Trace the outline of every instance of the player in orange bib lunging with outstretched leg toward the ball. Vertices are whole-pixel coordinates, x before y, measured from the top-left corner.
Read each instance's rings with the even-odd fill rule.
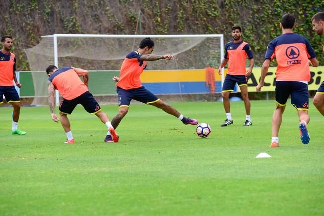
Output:
[[[111,121],[111,124],[116,129],[120,121],[128,112],[131,100],[137,100],[148,105],[162,109],[164,112],[179,118],[183,124],[197,125],[196,119],[184,117],[175,108],[160,100],[153,93],[148,91],[141,84],[140,75],[146,68],[146,61],[155,61],[159,59],[171,60],[173,56],[153,55],[154,42],[150,38],[145,38],[140,42],[137,51],[130,52],[124,59],[119,77],[113,77],[117,81],[118,105],[119,112]],[[108,139],[110,139],[108,137]]]

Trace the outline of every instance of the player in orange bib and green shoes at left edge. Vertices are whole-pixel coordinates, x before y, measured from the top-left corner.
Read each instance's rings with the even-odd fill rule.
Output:
[[[12,37],[1,38],[2,49],[0,51],[0,104],[3,103],[3,95],[7,103],[13,107],[11,134],[25,135],[26,132],[18,129],[20,116],[20,98],[13,81],[20,88],[21,84],[16,77],[16,57],[10,52],[12,48]]]

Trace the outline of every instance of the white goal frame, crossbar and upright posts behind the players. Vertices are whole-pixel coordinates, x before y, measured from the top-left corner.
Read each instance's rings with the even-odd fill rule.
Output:
[[[224,35],[223,34],[194,34],[194,35],[113,35],[113,34],[53,34],[53,35],[44,35],[41,36],[44,38],[53,38],[54,44],[54,65],[58,66],[58,47],[57,47],[57,39],[59,37],[88,37],[88,38],[188,38],[188,37],[219,37],[220,38],[220,63],[224,59]],[[224,68],[222,69],[222,87],[224,81]],[[56,90],[55,92],[55,100],[56,105],[59,105],[59,92]]]

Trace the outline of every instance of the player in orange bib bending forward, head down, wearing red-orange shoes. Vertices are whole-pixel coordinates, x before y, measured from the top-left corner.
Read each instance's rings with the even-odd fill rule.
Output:
[[[48,104],[50,107],[52,120],[54,122],[59,122],[54,112],[54,90],[57,89],[63,96],[59,110],[61,124],[67,136],[67,141],[65,143],[75,142],[67,115],[71,114],[78,104],[81,104],[87,112],[95,114],[107,126],[107,136],[112,137],[109,142],[118,142],[118,135],[115,129],[112,127],[107,114],[101,111],[98,102],[94,99],[93,95],[87,88],[89,81],[88,71],[74,67],[64,67],[58,69],[55,65],[50,65],[47,67],[46,73],[49,76],[47,82]],[[83,76],[84,82],[81,81],[79,78],[80,76]]]

